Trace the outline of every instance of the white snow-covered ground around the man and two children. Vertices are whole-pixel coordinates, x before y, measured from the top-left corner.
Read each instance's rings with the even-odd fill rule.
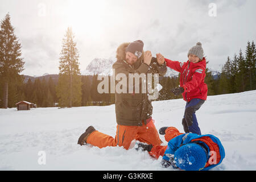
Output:
[[[153,107],[156,129],[175,126],[183,132],[185,101],[156,101]],[[256,90],[209,96],[197,119],[202,134],[216,135],[225,148],[225,159],[212,170],[256,170]],[[114,105],[0,109],[0,170],[172,170],[160,166],[162,157],[134,148],[78,145],[90,125],[114,137]],[[46,163],[39,164],[43,156]]]

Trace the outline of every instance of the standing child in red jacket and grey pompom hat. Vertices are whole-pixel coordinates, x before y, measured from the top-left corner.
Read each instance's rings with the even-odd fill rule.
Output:
[[[163,60],[164,57],[158,53],[156,58]],[[201,131],[196,119],[196,111],[207,100],[207,84],[204,82],[206,60],[202,44],[199,42],[188,51],[188,61],[181,63],[164,59],[167,67],[180,72],[180,86],[172,89],[177,96],[182,93],[183,99],[187,102],[182,125],[185,133],[196,133]]]

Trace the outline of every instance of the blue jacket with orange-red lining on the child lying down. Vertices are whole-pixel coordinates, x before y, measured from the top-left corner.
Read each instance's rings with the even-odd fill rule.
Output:
[[[178,135],[178,134],[177,134]],[[168,142],[166,151],[164,152],[163,159],[169,160],[167,155],[174,155],[175,151],[183,144],[188,143],[200,143],[208,150],[208,162],[205,167],[201,169],[202,171],[207,171],[210,168],[218,166],[222,160],[225,158],[225,150],[222,146],[220,140],[213,135],[197,135],[194,133],[179,134],[177,137],[171,139]]]

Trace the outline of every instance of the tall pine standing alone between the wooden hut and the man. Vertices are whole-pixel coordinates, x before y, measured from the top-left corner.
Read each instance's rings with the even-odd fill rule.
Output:
[[[69,27],[60,53],[59,81],[56,94],[61,107],[81,106],[81,76],[75,36]]]

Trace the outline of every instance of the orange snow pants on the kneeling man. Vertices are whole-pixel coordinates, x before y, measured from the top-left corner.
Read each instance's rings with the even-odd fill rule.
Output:
[[[151,119],[147,125],[142,126],[124,126],[117,125],[117,132],[115,138],[109,135],[93,131],[86,140],[86,143],[92,144],[99,148],[107,146],[123,146],[128,150],[132,140],[139,140],[147,144],[159,146],[162,141],[159,138],[158,131],[155,128],[154,122]]]

